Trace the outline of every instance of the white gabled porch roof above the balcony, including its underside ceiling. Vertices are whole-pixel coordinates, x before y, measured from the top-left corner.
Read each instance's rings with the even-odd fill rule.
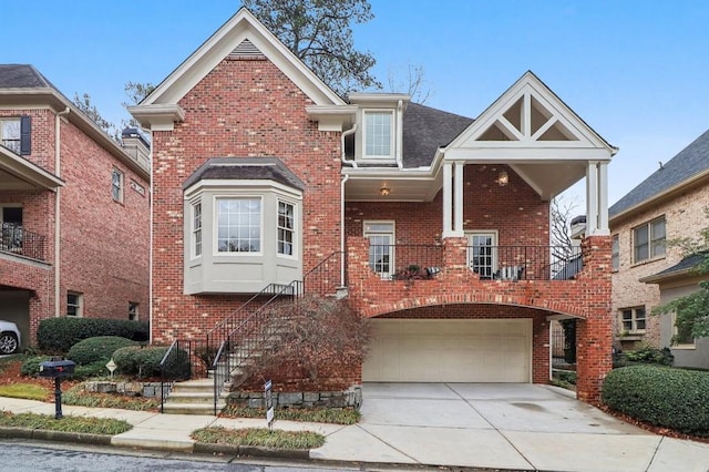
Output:
[[[510,165],[540,196],[553,198],[609,162],[612,146],[532,71],[441,148],[446,161]]]

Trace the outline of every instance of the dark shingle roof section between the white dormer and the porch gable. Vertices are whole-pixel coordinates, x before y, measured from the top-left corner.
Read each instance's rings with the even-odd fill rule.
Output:
[[[472,122],[470,117],[409,103],[403,113],[403,166],[431,165],[435,151],[458,137]]]

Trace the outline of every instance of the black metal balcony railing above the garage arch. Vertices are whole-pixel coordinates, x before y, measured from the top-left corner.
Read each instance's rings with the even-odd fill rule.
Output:
[[[441,245],[370,245],[369,266],[383,279],[432,279],[445,268],[443,250]],[[578,246],[467,246],[465,253],[481,280],[568,280],[583,267]]]

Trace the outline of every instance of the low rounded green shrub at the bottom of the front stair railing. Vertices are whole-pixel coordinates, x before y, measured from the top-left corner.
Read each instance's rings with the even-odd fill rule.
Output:
[[[113,361],[120,373],[138,378],[160,377],[162,373],[160,362],[167,349],[166,347],[136,346],[121,348],[113,352]],[[187,352],[184,350],[175,351],[171,359],[173,362],[169,362],[167,374],[175,379],[189,378],[191,366]]]

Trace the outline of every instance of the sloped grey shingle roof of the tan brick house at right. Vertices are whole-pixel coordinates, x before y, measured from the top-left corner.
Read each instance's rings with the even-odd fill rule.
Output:
[[[616,202],[608,208],[608,215],[610,218],[619,216],[707,174],[709,130]]]

